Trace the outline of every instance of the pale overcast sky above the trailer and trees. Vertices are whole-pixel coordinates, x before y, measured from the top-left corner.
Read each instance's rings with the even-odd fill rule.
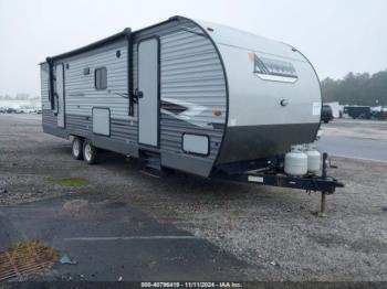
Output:
[[[0,95],[40,95],[38,64],[171,15],[286,42],[321,79],[387,68],[386,0],[0,0]]]

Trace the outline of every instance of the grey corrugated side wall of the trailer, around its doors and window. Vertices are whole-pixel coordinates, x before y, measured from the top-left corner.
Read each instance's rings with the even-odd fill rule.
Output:
[[[43,130],[59,137],[82,136],[96,147],[138,157],[138,111],[129,116],[127,79],[137,88],[137,44],[148,38],[160,43],[160,118],[158,148],[161,164],[208,176],[218,156],[227,115],[227,89],[223,67],[212,42],[188,20],[171,20],[133,33],[133,69],[127,73],[127,42],[55,60],[64,64],[65,128],[56,124],[50,107],[48,64],[41,65]],[[117,52],[119,51],[119,57]],[[54,64],[54,65],[55,65]],[[107,87],[95,88],[95,69],[106,67]],[[93,108],[109,110],[109,136],[93,133]],[[215,114],[216,111],[216,114]],[[184,136],[205,136],[208,153],[184,150]],[[194,139],[186,138],[186,139]],[[192,146],[188,146],[191,148]]]

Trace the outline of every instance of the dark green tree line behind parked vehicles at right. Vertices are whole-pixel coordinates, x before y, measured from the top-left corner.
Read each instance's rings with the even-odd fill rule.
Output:
[[[369,73],[348,73],[343,79],[330,77],[321,82],[323,100],[341,105],[387,106],[387,69]]]

